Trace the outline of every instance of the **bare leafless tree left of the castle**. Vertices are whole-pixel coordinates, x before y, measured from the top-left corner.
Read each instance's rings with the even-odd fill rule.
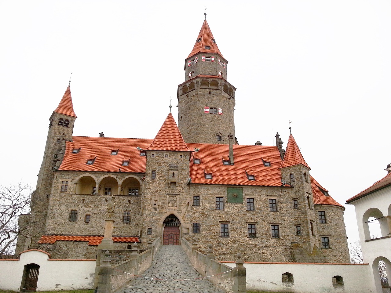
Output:
[[[13,254],[16,238],[27,227],[19,227],[18,217],[30,211],[30,188],[19,183],[16,186],[0,186],[0,258]]]

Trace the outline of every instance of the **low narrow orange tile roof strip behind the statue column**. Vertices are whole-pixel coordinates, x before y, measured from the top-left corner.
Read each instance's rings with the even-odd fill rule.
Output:
[[[54,244],[56,241],[88,241],[88,245],[97,246],[102,242],[100,235],[42,235],[39,244]],[[113,236],[114,242],[140,242],[139,236]]]

